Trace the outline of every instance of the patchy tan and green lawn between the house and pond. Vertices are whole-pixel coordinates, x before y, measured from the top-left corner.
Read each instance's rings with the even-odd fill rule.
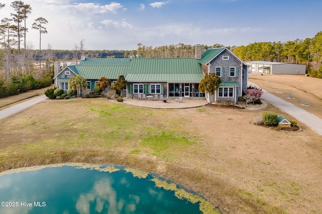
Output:
[[[263,111],[281,114],[270,104],[152,110],[103,98],[45,100],[1,120],[0,171],[113,163],[161,174],[224,213],[321,213],[321,136],[301,123],[295,133],[253,125]]]

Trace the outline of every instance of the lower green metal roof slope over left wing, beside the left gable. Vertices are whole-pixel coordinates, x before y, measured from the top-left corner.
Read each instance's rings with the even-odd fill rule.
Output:
[[[99,79],[105,76],[108,79],[117,79],[120,75],[126,76],[130,65],[75,65],[79,75],[86,79]]]

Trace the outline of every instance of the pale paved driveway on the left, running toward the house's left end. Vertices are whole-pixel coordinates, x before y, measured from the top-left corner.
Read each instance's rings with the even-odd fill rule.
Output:
[[[26,101],[23,101],[23,102],[19,102],[17,104],[13,104],[12,106],[4,109],[4,110],[1,110],[0,111],[0,120],[3,119],[3,118],[6,118],[12,114],[15,114],[17,112],[20,112],[28,107],[30,107],[31,105],[34,105],[38,102],[41,102],[43,100],[47,99],[47,96],[46,95],[41,95],[41,96],[37,96],[35,98],[32,98],[32,99],[28,99]]]

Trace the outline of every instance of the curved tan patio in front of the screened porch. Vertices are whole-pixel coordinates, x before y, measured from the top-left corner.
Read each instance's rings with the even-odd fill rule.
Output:
[[[151,109],[188,109],[197,108],[209,103],[204,97],[183,97],[182,102],[176,102],[176,98],[168,98],[167,102],[164,102],[163,100],[154,100],[153,98],[151,100],[125,98],[123,99],[123,102],[130,105]]]

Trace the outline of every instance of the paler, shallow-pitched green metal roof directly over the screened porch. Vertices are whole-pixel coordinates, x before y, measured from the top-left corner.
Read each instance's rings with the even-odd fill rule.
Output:
[[[129,82],[200,82],[202,73],[130,73],[125,79]]]

